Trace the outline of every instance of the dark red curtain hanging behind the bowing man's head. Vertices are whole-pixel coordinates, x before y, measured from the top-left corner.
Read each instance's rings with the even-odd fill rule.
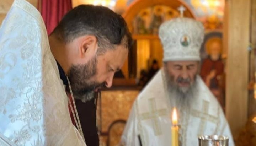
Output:
[[[48,35],[70,9],[71,0],[38,0],[38,10],[43,17]]]

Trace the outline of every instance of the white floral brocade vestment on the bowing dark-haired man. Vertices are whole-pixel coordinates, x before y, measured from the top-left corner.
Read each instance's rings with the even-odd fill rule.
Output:
[[[38,10],[15,0],[0,27],[0,146],[86,146]]]

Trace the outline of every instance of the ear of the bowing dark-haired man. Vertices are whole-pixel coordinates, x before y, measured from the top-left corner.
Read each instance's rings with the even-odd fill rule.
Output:
[[[79,57],[84,58],[86,56],[95,55],[97,48],[97,38],[93,35],[86,35],[81,39]]]

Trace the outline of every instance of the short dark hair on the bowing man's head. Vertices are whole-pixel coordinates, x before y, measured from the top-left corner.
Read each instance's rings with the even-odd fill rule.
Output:
[[[123,44],[127,48],[132,45],[132,37],[124,18],[103,6],[75,7],[66,13],[52,34],[56,34],[65,43],[83,35],[94,35],[101,53],[106,52],[106,48],[113,49],[113,45]]]

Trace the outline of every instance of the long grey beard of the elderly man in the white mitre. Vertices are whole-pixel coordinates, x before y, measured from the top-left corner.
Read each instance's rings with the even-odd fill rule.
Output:
[[[188,88],[179,87],[174,76],[165,72],[167,93],[172,107],[177,109],[189,109],[191,104],[196,100],[195,93],[197,90],[196,76],[194,82]]]

